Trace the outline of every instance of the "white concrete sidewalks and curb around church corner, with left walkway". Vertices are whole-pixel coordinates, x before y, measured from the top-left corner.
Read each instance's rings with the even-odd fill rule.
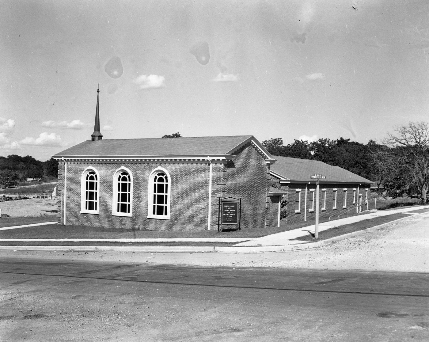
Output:
[[[366,214],[349,216],[332,220],[329,222],[323,222],[319,224],[319,232],[328,230],[330,228],[339,227],[346,224],[351,224],[379,216],[393,215],[396,213],[405,213],[409,215],[416,215],[412,213],[418,209],[427,209],[428,206],[419,206],[418,208],[402,208],[388,211],[369,211]],[[56,223],[56,222],[54,222]],[[47,222],[43,224],[52,224]],[[43,224],[29,224],[26,226],[15,226],[15,227],[4,227],[2,229],[16,229],[21,227],[31,227]],[[378,226],[377,226],[378,227]],[[353,235],[364,233],[365,231],[376,229],[376,227],[368,228],[366,230],[360,230],[353,233],[348,233],[335,238],[327,239],[324,241],[310,242],[296,240],[301,236],[307,236],[309,232],[314,233],[315,225],[309,225],[307,227],[297,228],[294,230],[288,230],[286,232],[276,233],[272,235],[262,236],[259,238],[173,238],[173,239],[0,239],[0,249],[13,249],[13,250],[75,250],[75,251],[158,251],[158,252],[244,252],[244,253],[255,253],[255,252],[270,252],[270,251],[287,251],[293,249],[305,249],[320,246],[328,242],[341,240]],[[233,246],[228,247],[214,247],[214,246],[1,246],[1,242],[227,242],[234,243],[238,242]],[[71,248],[72,247],[72,248]]]

